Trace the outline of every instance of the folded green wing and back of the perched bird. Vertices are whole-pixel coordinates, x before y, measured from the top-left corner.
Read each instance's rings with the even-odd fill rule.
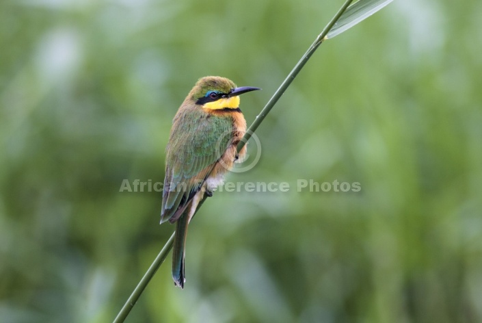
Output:
[[[200,190],[231,140],[229,116],[212,116],[197,107],[178,112],[165,157],[161,223],[177,220],[176,211]]]

